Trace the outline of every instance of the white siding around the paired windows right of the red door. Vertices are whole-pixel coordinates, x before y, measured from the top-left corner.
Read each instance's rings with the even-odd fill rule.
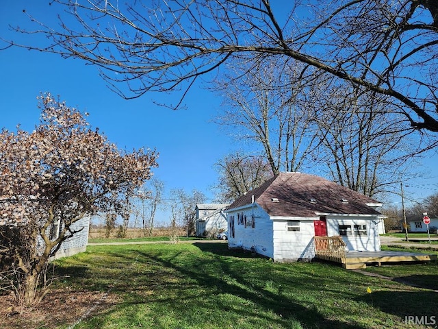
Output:
[[[348,251],[359,252],[369,251],[376,252],[381,250],[381,241],[378,236],[378,222],[376,217],[327,217],[327,235],[340,235],[339,225],[354,227],[355,225],[366,226],[367,235],[361,236],[342,236],[342,240],[347,245]]]

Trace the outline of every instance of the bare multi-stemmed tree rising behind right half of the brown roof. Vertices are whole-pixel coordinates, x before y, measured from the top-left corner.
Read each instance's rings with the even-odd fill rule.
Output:
[[[391,104],[346,83],[326,86],[318,99],[318,156],[333,180],[370,197],[400,182],[410,144],[400,118],[383,109]]]

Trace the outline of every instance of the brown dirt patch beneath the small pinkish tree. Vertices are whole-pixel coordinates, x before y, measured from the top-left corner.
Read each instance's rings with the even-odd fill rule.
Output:
[[[12,295],[0,295],[0,328],[57,328],[75,324],[116,304],[117,297],[96,291],[53,290],[38,306],[16,307]]]

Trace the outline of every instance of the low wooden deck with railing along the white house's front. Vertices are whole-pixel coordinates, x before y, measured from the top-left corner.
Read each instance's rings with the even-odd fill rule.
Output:
[[[315,236],[316,258],[340,263],[344,269],[365,269],[367,264],[381,266],[383,263],[428,262],[437,260],[437,255],[415,252],[346,252],[339,236]]]

